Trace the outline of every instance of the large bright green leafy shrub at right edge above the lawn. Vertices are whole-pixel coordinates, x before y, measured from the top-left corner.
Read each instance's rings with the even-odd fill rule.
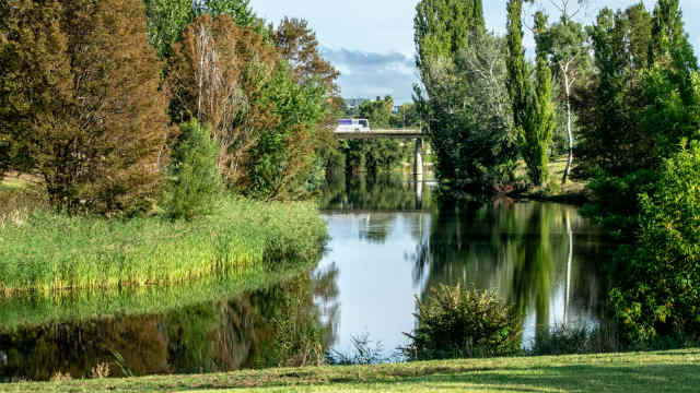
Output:
[[[667,159],[640,196],[640,234],[611,290],[631,342],[700,336],[700,144]]]

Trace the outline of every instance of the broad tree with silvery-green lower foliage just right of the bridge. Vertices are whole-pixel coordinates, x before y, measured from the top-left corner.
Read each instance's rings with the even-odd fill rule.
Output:
[[[443,186],[483,191],[512,182],[517,135],[505,85],[505,43],[485,29],[481,1],[421,1],[416,100]]]

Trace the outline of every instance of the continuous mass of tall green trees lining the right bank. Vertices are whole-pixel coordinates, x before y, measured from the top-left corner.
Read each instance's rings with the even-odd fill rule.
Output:
[[[517,191],[508,184],[522,158],[532,183],[551,190],[549,160],[568,153],[563,182],[570,171],[590,181],[585,212],[621,246],[602,267],[628,344],[697,337],[700,302],[688,288],[700,281],[687,261],[698,239],[669,224],[674,242],[660,224],[692,227],[684,212],[698,206],[697,175],[677,174],[685,186],[668,191],[668,166],[691,160],[680,146],[700,140],[700,73],[679,1],[657,0],[653,13],[642,2],[604,8],[584,27],[585,0],[552,0],[560,15],[535,13],[529,60],[523,14],[534,3],[508,1],[501,38],[486,33],[479,1],[419,2],[416,103],[436,175],[444,189]],[[660,201],[672,194],[676,205]]]

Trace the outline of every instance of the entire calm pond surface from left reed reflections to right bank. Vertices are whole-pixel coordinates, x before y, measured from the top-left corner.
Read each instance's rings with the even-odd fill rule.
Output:
[[[576,207],[495,200],[441,204],[430,183],[341,179],[323,217],[331,240],[311,271],[240,294],[187,287],[0,300],[0,381],[228,371],[350,354],[352,337],[406,344],[415,299],[439,284],[495,290],[537,326],[598,323],[606,253]]]

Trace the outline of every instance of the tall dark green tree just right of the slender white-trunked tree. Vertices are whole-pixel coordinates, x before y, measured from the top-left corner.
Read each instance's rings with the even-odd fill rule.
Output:
[[[588,33],[597,73],[572,97],[580,126],[576,171],[617,176],[649,166],[653,141],[634,116],[644,105],[640,71],[649,67],[651,15],[643,4],[625,12],[603,9]]]

